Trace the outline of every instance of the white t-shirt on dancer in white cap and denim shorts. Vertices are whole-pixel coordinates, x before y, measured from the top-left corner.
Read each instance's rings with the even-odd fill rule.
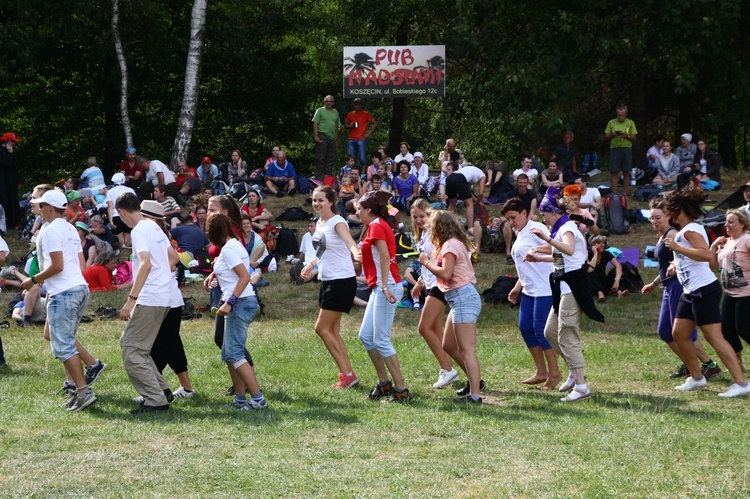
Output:
[[[64,218],[56,218],[44,229],[41,239],[44,248],[43,268],[52,265],[51,253],[59,251],[63,257],[62,272],[45,281],[47,293],[53,296],[76,286],[86,286],[86,279],[81,273],[81,262],[78,259],[78,254],[83,253],[83,248],[81,248],[81,239],[75,227]]]

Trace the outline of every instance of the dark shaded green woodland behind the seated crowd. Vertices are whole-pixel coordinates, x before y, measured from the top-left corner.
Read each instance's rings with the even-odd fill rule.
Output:
[[[124,156],[120,70],[107,2],[0,3],[0,131],[14,131],[26,184]],[[168,161],[182,102],[191,3],[121,0],[129,109],[139,153]],[[209,0],[188,163],[239,148],[262,166],[273,145],[312,171],[310,119],[341,99],[344,46],[446,46],[447,97],[368,100],[369,141],[425,153],[446,137],[475,164],[544,160],[572,129],[579,151],[605,154],[606,122],[626,104],[645,153],[656,133],[692,132],[744,167],[750,121],[750,2],[496,0]],[[342,135],[342,139],[344,136]],[[344,140],[339,155],[343,162]],[[395,154],[395,150],[393,151]],[[27,186],[25,186],[27,187]]]

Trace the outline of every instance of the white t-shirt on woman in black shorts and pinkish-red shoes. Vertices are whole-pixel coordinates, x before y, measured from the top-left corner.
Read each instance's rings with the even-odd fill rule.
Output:
[[[325,222],[321,218],[315,226],[312,242],[315,248],[315,256],[318,258],[318,278],[321,281],[347,279],[355,276],[349,248],[346,247],[346,243],[336,232],[338,224],[345,224],[346,230],[349,230],[346,220],[339,215],[334,215]]]

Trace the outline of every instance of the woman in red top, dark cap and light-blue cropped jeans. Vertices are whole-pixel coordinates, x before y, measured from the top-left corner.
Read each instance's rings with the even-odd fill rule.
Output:
[[[359,217],[366,226],[360,248],[362,267],[367,285],[372,288],[359,339],[378,373],[378,385],[370,393],[370,399],[388,396],[389,402],[408,402],[409,389],[404,386],[398,356],[391,343],[393,318],[404,288],[396,265],[396,239],[388,223],[389,199],[387,192],[368,192],[358,205]],[[393,385],[386,366],[393,377]]]

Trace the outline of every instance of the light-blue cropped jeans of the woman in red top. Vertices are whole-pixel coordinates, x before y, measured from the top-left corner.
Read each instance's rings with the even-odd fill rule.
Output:
[[[377,349],[384,359],[396,355],[396,349],[391,343],[391,327],[396,316],[396,307],[404,293],[404,286],[399,282],[389,285],[388,289],[396,297],[395,303],[386,299],[380,287],[373,288],[365,308],[365,316],[362,318],[362,326],[359,328],[359,339],[365,350],[369,352]]]

